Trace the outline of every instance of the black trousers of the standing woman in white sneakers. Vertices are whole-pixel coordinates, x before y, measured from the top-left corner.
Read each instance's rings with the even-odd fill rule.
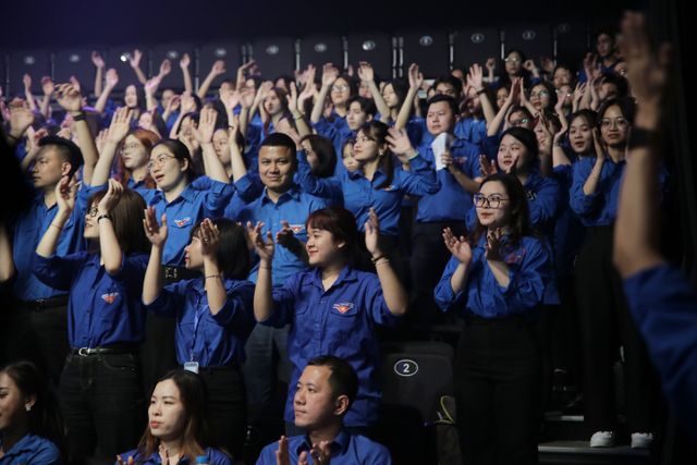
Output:
[[[614,430],[613,365],[624,347],[624,392],[631,432],[651,431],[655,377],[612,265],[610,227],[589,228],[576,266],[588,432]]]

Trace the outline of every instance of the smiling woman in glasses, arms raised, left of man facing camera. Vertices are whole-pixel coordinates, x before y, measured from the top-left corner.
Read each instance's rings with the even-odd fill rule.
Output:
[[[140,189],[157,218],[164,217],[169,240],[162,250],[162,278],[166,283],[195,278],[184,264],[184,247],[191,231],[204,218],[223,215],[234,187],[228,172],[216,155],[212,136],[217,112],[204,109],[198,127],[192,129],[203,151],[207,176],[196,176],[188,148],[180,140],[162,139],[155,144],[146,168],[155,181],[155,189]],[[100,157],[93,184],[106,182],[110,157]],[[195,184],[194,184],[195,181]],[[150,392],[155,382],[169,369],[179,366],[174,345],[174,322],[171,318],[148,315],[143,344],[144,392]]]

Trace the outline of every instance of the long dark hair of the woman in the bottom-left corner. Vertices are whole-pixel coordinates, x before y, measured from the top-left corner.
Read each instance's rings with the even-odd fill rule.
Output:
[[[32,409],[26,413],[29,432],[52,441],[64,455],[65,429],[63,428],[63,419],[56,395],[48,388],[44,375],[33,363],[26,360],[7,365],[0,372],[8,375],[23,395],[36,397]]]

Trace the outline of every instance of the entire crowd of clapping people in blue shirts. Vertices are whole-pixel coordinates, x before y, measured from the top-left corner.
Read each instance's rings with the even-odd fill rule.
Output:
[[[0,224],[0,464],[388,464],[380,344],[456,320],[467,464],[537,463],[554,380],[614,445],[620,358],[633,448],[659,379],[694,427],[694,291],[656,231],[670,53],[622,32],[435,79],[218,61],[194,89],[184,56],[160,91],[172,63],[137,50],[123,99],[98,53],[94,95],[25,76],[0,99],[33,187]]]

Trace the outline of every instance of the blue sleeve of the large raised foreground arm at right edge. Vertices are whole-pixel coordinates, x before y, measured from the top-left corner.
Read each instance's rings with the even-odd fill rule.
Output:
[[[669,264],[629,276],[624,292],[671,411],[697,438],[697,292]]]

